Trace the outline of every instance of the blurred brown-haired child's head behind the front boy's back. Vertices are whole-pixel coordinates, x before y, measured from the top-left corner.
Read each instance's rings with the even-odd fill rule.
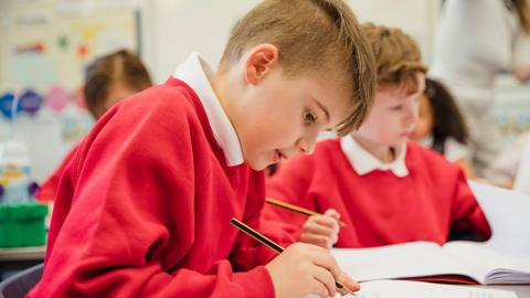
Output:
[[[97,120],[117,102],[152,85],[140,58],[120,50],[96,58],[86,67],[85,103]]]

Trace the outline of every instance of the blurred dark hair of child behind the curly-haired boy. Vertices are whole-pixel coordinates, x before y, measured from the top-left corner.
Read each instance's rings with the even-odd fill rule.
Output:
[[[439,82],[425,79],[425,96],[427,97],[434,115],[433,149],[444,153],[445,140],[453,137],[462,143],[467,142],[468,130],[458,106]]]

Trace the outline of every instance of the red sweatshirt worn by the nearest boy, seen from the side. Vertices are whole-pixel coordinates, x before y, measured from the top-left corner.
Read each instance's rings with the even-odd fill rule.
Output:
[[[225,164],[184,83],[113,107],[66,166],[43,277],[28,297],[274,297],[259,265],[276,253],[230,220],[293,238],[258,226],[263,174]]]

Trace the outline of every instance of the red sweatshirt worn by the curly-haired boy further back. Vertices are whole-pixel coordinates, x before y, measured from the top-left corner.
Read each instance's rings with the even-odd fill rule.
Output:
[[[407,143],[409,175],[374,170],[359,175],[339,139],[319,142],[314,156],[283,164],[267,184],[267,196],[325,212],[336,209],[348,224],[337,247],[372,247],[411,241],[447,242],[449,230],[475,230],[489,237],[489,225],[463,172],[434,151]],[[266,206],[264,216],[289,222],[298,237],[307,216]]]

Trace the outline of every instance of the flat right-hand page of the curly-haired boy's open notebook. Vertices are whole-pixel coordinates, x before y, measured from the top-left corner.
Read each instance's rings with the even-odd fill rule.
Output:
[[[455,241],[445,244],[444,251],[469,269],[473,277],[483,284],[487,284],[485,283],[486,276],[495,269],[502,268],[530,274],[530,257],[500,253],[491,247],[490,243]]]

